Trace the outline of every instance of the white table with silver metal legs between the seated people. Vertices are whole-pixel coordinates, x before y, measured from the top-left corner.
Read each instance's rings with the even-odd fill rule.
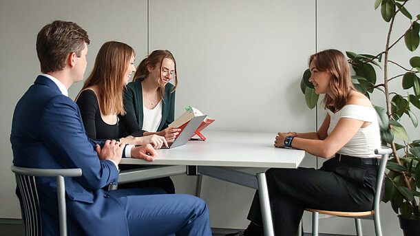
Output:
[[[277,133],[204,131],[205,141],[189,141],[174,149],[159,149],[154,162],[123,158],[120,164],[149,165],[121,171],[118,183],[169,175],[209,175],[258,189],[265,235],[274,235],[265,173],[251,175],[229,167],[297,168],[305,152],[273,146]]]

